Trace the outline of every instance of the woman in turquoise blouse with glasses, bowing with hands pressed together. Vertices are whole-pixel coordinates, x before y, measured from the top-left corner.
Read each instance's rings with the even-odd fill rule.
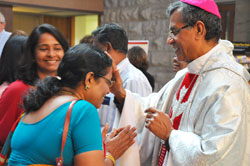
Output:
[[[25,115],[13,134],[8,164],[56,165],[67,109],[72,101],[78,100],[71,113],[63,165],[114,166],[110,158],[104,160],[97,112],[112,86],[111,65],[111,58],[91,45],[70,48],[57,76],[46,77],[24,97]],[[127,137],[130,146],[136,136],[134,131],[135,128],[126,128],[116,134]]]

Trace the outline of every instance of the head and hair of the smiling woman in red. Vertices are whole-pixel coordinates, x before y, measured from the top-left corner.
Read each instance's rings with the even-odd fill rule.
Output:
[[[50,24],[37,26],[30,34],[22,56],[18,79],[29,85],[47,75],[56,75],[57,67],[68,50],[63,35]]]

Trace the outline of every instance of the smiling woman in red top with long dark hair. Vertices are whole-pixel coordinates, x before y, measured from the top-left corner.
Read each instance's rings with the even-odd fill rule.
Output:
[[[18,117],[23,113],[21,97],[35,83],[56,71],[68,43],[56,27],[41,24],[28,37],[17,70],[17,80],[5,89],[0,99],[0,149]]]

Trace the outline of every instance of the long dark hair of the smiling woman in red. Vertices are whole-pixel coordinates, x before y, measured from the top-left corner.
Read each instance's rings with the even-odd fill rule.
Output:
[[[49,33],[56,38],[61,44],[64,52],[69,48],[67,41],[60,33],[60,31],[50,24],[38,25],[28,37],[27,44],[24,49],[24,55],[21,57],[20,65],[17,73],[17,79],[22,80],[24,83],[34,85],[39,80],[37,72],[37,64],[35,61],[36,53],[35,48],[39,42],[42,34]]]

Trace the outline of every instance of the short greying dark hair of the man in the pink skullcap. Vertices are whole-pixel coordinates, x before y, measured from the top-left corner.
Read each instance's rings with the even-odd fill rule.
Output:
[[[202,21],[207,31],[205,39],[208,41],[216,38],[218,42],[222,33],[221,19],[218,16],[181,1],[170,4],[167,9],[167,14],[171,16],[178,8],[182,11],[183,23],[194,26],[197,21]]]

